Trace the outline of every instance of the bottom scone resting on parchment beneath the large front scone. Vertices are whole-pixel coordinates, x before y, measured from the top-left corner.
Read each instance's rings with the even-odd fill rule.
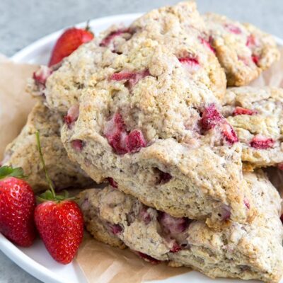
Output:
[[[279,282],[283,273],[281,199],[262,171],[246,173],[245,179],[258,214],[250,224],[232,221],[219,231],[209,229],[204,221],[187,219],[185,224],[185,219],[145,207],[111,186],[81,192],[80,204],[86,228],[95,238],[112,246],[125,244],[146,260],[170,261],[172,266],[192,267],[213,278]],[[109,239],[111,234],[116,242]]]

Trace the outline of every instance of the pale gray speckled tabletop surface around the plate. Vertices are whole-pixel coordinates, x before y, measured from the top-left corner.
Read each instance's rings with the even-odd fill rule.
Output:
[[[171,0],[0,0],[0,52],[7,56],[65,26],[86,19],[149,11]],[[214,11],[249,21],[283,37],[282,0],[197,0],[201,12]],[[0,283],[39,282],[0,251]],[[71,283],[71,282],[70,282]]]

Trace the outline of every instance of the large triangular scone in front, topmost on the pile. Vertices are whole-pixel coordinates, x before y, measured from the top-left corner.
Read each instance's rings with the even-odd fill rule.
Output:
[[[241,146],[212,91],[151,39],[93,74],[62,141],[93,180],[173,216],[245,222],[253,213]],[[76,109],[76,111],[74,111]],[[76,115],[70,113],[76,112]]]

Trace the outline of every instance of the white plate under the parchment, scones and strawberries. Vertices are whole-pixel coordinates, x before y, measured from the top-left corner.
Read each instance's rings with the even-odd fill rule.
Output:
[[[106,18],[98,18],[91,21],[90,25],[92,30],[98,34],[100,31],[105,30],[108,26],[114,23],[125,23],[128,25],[135,18],[140,16],[139,13],[110,16]],[[86,23],[81,23],[76,26],[84,26]],[[62,33],[59,30],[56,33],[47,35],[40,40],[37,40],[32,45],[25,47],[20,52],[16,53],[12,59],[15,62],[28,62],[35,64],[47,64],[50,57],[50,52],[54,42],[58,36]],[[283,45],[283,40],[277,38],[277,42]],[[31,248],[18,248],[13,243],[8,241],[4,236],[0,234],[0,249],[5,253],[8,258],[16,262],[17,265],[23,268],[26,272],[40,279],[42,282],[47,283],[86,283],[85,277],[76,262],[72,262],[69,265],[59,265],[54,262],[50,255],[45,250],[44,245],[40,240],[37,240],[35,245]],[[199,272],[188,272],[185,275],[172,277],[163,282],[167,283],[242,283],[242,280],[231,280],[231,279],[209,279]],[[255,281],[250,281],[253,283]]]

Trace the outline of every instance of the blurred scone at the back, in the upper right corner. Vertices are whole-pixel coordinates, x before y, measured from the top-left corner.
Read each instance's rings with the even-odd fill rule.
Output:
[[[255,26],[215,13],[207,13],[202,18],[229,86],[248,84],[279,59],[275,39]]]

